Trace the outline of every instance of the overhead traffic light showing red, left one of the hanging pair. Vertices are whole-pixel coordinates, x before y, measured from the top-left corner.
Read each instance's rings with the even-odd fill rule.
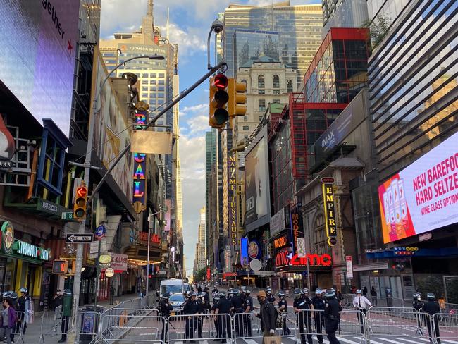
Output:
[[[226,103],[229,100],[227,92],[228,78],[224,74],[217,74],[210,78],[209,125],[212,128],[224,128],[229,119]]]

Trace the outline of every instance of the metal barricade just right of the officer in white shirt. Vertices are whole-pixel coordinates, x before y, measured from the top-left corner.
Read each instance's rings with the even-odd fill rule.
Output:
[[[377,336],[433,340],[428,336],[428,328],[432,326],[429,314],[416,312],[414,308],[372,307],[366,320],[369,340]]]

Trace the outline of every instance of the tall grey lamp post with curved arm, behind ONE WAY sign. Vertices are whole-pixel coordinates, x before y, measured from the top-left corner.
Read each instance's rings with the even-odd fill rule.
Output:
[[[99,100],[99,96],[101,94],[101,90],[103,90],[105,82],[109,80],[111,75],[115,70],[120,68],[120,66],[123,66],[126,62],[135,60],[135,59],[150,59],[150,60],[163,60],[163,56],[135,56],[131,57],[130,59],[125,60],[123,63],[119,63],[118,66],[113,68],[111,72],[106,75],[106,78],[104,81],[101,83],[100,89],[97,91],[96,96],[94,97],[94,100],[92,101],[92,113],[89,113],[89,130],[87,134],[87,147],[86,147],[86,157],[85,157],[85,185],[89,185],[89,173],[91,171],[91,155],[92,155],[92,149],[94,145],[94,123],[95,123],[95,115],[97,114],[97,104]],[[97,85],[96,85],[97,87]],[[92,195],[94,195],[94,192],[92,192]],[[92,198],[92,195],[88,197],[88,201],[90,198]],[[78,233],[84,234],[85,233],[85,228],[86,228],[86,214],[85,216],[81,219],[80,221],[80,226],[78,228]],[[72,307],[72,321],[71,321],[71,326],[70,326],[70,332],[69,334],[69,343],[73,343],[72,340],[74,340],[75,336],[75,324],[76,324],[76,317],[78,314],[78,305],[80,303],[80,286],[81,286],[81,268],[82,268],[82,245],[83,244],[77,244],[77,250],[76,250],[76,266],[75,266],[75,277],[73,278],[73,307]],[[96,293],[98,293],[98,290],[96,290]],[[71,338],[70,338],[71,337]]]

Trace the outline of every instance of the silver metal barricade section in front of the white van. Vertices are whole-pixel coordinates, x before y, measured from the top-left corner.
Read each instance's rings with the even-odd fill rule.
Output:
[[[171,315],[168,317],[168,343],[190,340],[233,339],[233,319],[230,314]]]

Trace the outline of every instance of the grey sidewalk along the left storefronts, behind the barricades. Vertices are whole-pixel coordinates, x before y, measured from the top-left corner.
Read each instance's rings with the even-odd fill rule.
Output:
[[[118,297],[113,297],[113,301],[114,301],[113,303],[116,304],[116,302],[132,300],[132,299],[136,299],[137,297],[139,297],[137,294],[126,294],[126,295],[122,295]],[[93,305],[94,304],[92,304],[92,306]],[[106,311],[106,309],[110,309],[111,307],[115,306],[115,305],[110,305],[109,300],[102,300],[100,302],[97,302],[97,305],[104,307],[104,311]],[[91,304],[85,305],[85,306],[91,306]],[[43,315],[43,312],[36,312],[33,324],[27,324],[27,330],[25,331],[25,336],[23,337],[25,344],[38,344],[39,343],[40,336],[42,333],[42,315]],[[61,328],[59,327],[58,332],[60,331],[61,331]],[[59,335],[56,334],[55,336],[45,336],[44,342],[47,344],[48,343],[54,344],[54,343],[57,343],[58,340],[60,339],[61,339],[60,334]],[[22,343],[22,341],[17,340],[17,338],[15,339],[14,342]],[[40,343],[43,343],[43,340],[41,340]]]

